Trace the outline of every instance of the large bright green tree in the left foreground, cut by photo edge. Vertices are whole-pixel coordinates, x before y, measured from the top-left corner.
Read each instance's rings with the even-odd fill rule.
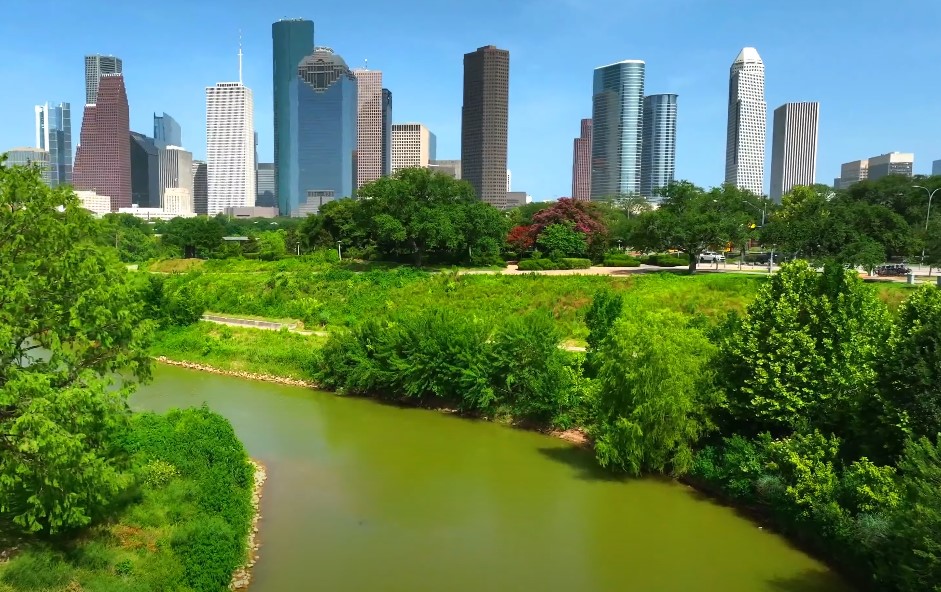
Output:
[[[85,526],[126,484],[117,438],[148,323],[94,238],[69,188],[0,167],[0,519],[28,532]]]

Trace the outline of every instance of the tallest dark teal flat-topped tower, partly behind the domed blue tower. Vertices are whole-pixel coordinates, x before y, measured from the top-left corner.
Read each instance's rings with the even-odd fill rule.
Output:
[[[290,214],[289,204],[297,203],[294,192],[299,155],[292,152],[292,134],[298,133],[296,108],[291,105],[292,86],[297,81],[301,60],[314,49],[314,23],[305,19],[280,20],[271,25],[274,89],[274,171],[275,195],[281,215]],[[292,179],[295,181],[292,182]]]

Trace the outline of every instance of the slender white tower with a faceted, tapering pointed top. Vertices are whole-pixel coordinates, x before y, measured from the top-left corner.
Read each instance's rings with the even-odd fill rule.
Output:
[[[754,47],[746,47],[729,70],[725,182],[755,195],[764,193],[767,117],[765,65]]]

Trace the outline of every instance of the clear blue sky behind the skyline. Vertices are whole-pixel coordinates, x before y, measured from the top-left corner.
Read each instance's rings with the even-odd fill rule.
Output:
[[[309,18],[315,42],[351,67],[383,71],[393,120],[420,121],[438,158],[460,158],[463,54],[510,50],[509,168],[536,200],[570,193],[572,139],[591,116],[592,69],[647,62],[648,94],[679,94],[676,174],[721,183],[728,69],[743,46],[766,68],[770,115],[788,101],[821,103],[817,180],[841,162],[915,153],[915,171],[941,159],[941,44],[936,0],[55,0],[43,10],[5,3],[0,19],[0,150],[31,145],[33,105],[69,101],[75,142],[84,102],[83,56],[124,60],[131,128],[153,113],[183,127],[205,154],[205,87],[238,76],[255,96],[259,156],[272,157],[271,23]],[[41,20],[40,20],[41,19]],[[770,160],[770,135],[768,160]],[[767,178],[766,178],[767,187]]]

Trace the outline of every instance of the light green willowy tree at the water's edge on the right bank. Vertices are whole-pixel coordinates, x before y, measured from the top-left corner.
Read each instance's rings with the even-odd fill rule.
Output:
[[[598,417],[591,433],[604,467],[631,475],[685,473],[716,404],[709,340],[673,312],[631,310],[599,350]]]

